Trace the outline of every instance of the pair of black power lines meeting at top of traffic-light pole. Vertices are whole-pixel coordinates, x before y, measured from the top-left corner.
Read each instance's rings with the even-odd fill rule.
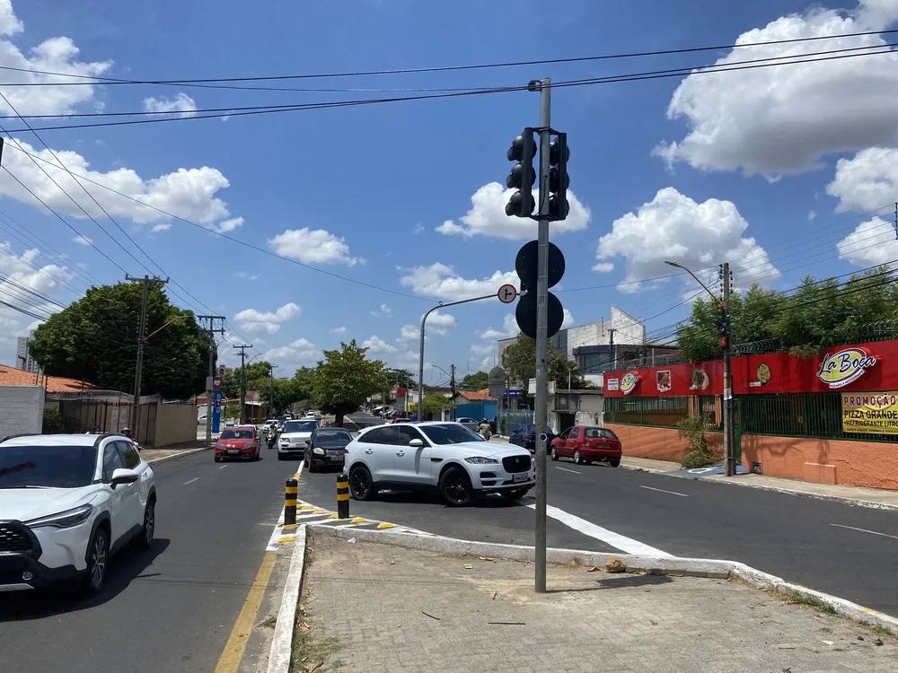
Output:
[[[697,74],[714,74],[714,73],[728,73],[740,70],[753,70],[756,68],[766,68],[766,67],[779,67],[779,66],[792,66],[803,63],[819,63],[824,61],[832,61],[832,60],[840,60],[844,58],[857,58],[857,57],[871,57],[877,55],[887,55],[893,54],[894,51],[892,48],[898,47],[898,43],[889,43],[883,45],[876,45],[874,47],[857,47],[857,48],[844,48],[844,49],[830,49],[822,52],[815,52],[814,54],[802,54],[802,55],[793,55],[793,56],[779,56],[779,57],[766,57],[766,58],[756,58],[747,61],[735,61],[733,63],[720,64],[714,66],[691,66],[691,67],[681,67],[681,68],[672,68],[669,70],[656,70],[656,71],[648,71],[643,73],[631,73],[631,74],[615,74],[608,75],[604,77],[593,77],[588,79],[581,80],[571,80],[568,82],[558,82],[552,83],[553,89],[563,89],[567,87],[574,86],[592,86],[597,84],[610,84],[610,83],[625,83],[625,82],[640,82],[644,80],[654,80],[654,79],[665,79],[670,77],[682,77],[687,75],[697,75]],[[848,52],[848,53],[846,53]],[[823,56],[830,55],[830,56]],[[390,98],[377,98],[377,99],[361,99],[354,101],[322,101],[322,102],[313,102],[313,103],[297,103],[297,104],[285,104],[285,105],[274,105],[274,106],[255,106],[249,109],[240,109],[238,107],[226,108],[226,109],[210,109],[208,113],[193,113],[189,116],[183,116],[183,110],[174,111],[172,113],[169,112],[123,112],[123,113],[88,113],[88,114],[74,114],[69,116],[54,116],[55,118],[63,117],[63,118],[81,118],[81,117],[90,117],[91,115],[98,115],[103,118],[108,117],[116,117],[116,116],[126,116],[126,117],[134,117],[136,115],[140,115],[141,117],[147,116],[155,116],[154,118],[140,118],[140,119],[126,119],[123,121],[101,121],[96,123],[89,124],[66,124],[60,126],[51,126],[51,127],[29,127],[23,129],[12,129],[9,131],[10,133],[21,133],[23,131],[55,131],[55,130],[63,130],[63,129],[73,129],[73,128],[95,128],[95,127],[125,127],[125,126],[135,126],[135,125],[143,125],[143,124],[160,124],[167,122],[175,122],[175,121],[190,121],[195,119],[210,119],[210,118],[231,118],[231,117],[246,117],[246,116],[256,116],[256,115],[266,115],[266,114],[277,114],[282,112],[297,112],[297,111],[308,111],[315,109],[335,109],[335,108],[351,108],[365,105],[378,105],[384,103],[394,103],[394,102],[408,102],[408,101],[432,101],[437,99],[448,99],[448,98],[460,98],[466,96],[480,96],[480,95],[489,95],[495,93],[508,93],[508,92],[524,92],[528,90],[527,85],[523,86],[505,86],[505,87],[491,87],[486,89],[471,89],[462,92],[448,92],[448,93],[433,93],[426,94],[421,96],[394,96]],[[169,115],[167,117],[161,117],[161,115]]]

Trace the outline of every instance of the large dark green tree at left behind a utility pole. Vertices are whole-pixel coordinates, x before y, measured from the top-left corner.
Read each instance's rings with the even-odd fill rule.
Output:
[[[31,354],[48,374],[131,392],[143,288],[119,283],[92,287],[35,331]],[[206,389],[208,336],[193,312],[169,302],[161,285],[147,295],[141,392],[186,399]]]

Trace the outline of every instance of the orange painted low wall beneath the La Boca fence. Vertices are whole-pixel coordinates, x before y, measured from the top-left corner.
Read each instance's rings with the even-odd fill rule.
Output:
[[[685,442],[675,430],[644,425],[606,424],[621,438],[623,454],[676,461]],[[721,451],[723,435],[709,433]],[[761,463],[767,476],[799,481],[885,488],[898,491],[898,445],[876,441],[814,440],[744,434],[742,464]]]

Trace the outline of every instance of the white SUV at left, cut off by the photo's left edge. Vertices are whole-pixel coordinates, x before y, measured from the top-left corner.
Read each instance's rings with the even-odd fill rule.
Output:
[[[110,555],[149,547],[153,468],[110,434],[13,435],[0,441],[0,591],[75,583],[99,593]]]

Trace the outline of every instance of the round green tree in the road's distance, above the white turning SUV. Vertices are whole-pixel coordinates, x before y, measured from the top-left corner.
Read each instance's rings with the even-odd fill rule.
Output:
[[[315,368],[312,398],[321,411],[337,416],[338,425],[343,424],[344,415],[362,406],[365,398],[383,389],[383,363],[368,360],[367,350],[355,339],[341,343],[339,350],[324,351],[324,360]]]

